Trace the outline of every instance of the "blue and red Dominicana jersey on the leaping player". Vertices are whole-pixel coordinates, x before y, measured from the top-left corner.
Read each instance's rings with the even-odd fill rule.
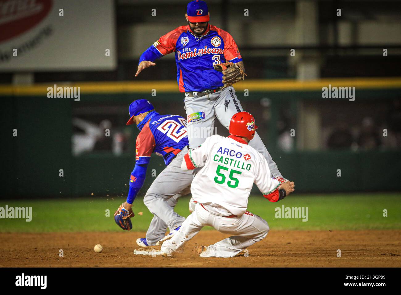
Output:
[[[189,25],[179,26],[160,37],[140,57],[155,61],[175,52],[180,92],[201,92],[223,86],[223,74],[214,69],[218,63],[242,61],[233,37],[209,24],[202,36],[194,35]]]

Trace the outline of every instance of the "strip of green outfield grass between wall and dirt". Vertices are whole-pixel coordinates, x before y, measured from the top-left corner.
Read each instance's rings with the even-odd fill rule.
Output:
[[[83,232],[119,231],[113,213],[125,201],[122,197],[90,197],[83,199],[0,200],[0,207],[32,207],[32,221],[0,219],[0,232]],[[176,212],[188,216],[189,197],[181,198]],[[308,207],[308,221],[275,218],[275,208]],[[106,210],[110,216],[106,217]],[[387,209],[388,216],[383,217]],[[276,230],[363,230],[401,228],[400,193],[360,194],[293,194],[271,203],[253,195],[248,210],[267,220]],[[146,231],[152,214],[138,197],[134,202],[136,216],[132,219],[135,231]],[[140,216],[138,212],[143,212]],[[210,228],[207,228],[210,229]]]

